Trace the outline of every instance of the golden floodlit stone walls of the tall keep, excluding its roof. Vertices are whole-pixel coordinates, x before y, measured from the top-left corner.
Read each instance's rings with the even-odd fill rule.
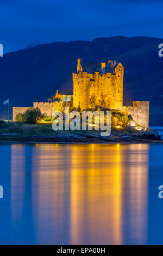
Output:
[[[80,109],[91,108],[91,99],[96,105],[110,109],[121,109],[123,106],[124,68],[119,63],[115,74],[73,73],[73,106]]]

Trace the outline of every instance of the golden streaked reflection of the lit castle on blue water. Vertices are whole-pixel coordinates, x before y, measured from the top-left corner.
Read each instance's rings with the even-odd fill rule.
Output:
[[[29,172],[36,243],[146,243],[149,145],[24,147],[12,145],[11,214],[16,224]]]

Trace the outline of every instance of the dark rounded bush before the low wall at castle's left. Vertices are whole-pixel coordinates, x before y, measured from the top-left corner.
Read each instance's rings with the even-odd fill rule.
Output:
[[[29,108],[25,113],[22,114],[23,121],[28,124],[36,124],[37,121],[41,120],[43,117],[41,110],[39,108]]]

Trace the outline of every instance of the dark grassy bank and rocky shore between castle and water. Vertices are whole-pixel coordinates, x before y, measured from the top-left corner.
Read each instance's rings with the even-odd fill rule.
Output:
[[[54,131],[52,126],[14,122],[0,123],[0,142],[163,144],[156,130],[142,127],[112,128],[109,137],[102,137],[100,131]]]

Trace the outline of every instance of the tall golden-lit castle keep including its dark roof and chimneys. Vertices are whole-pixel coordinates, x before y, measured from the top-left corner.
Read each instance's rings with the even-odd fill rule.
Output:
[[[80,109],[96,105],[121,109],[123,106],[123,74],[121,63],[83,63],[78,59],[77,73],[73,73],[73,106]]]

